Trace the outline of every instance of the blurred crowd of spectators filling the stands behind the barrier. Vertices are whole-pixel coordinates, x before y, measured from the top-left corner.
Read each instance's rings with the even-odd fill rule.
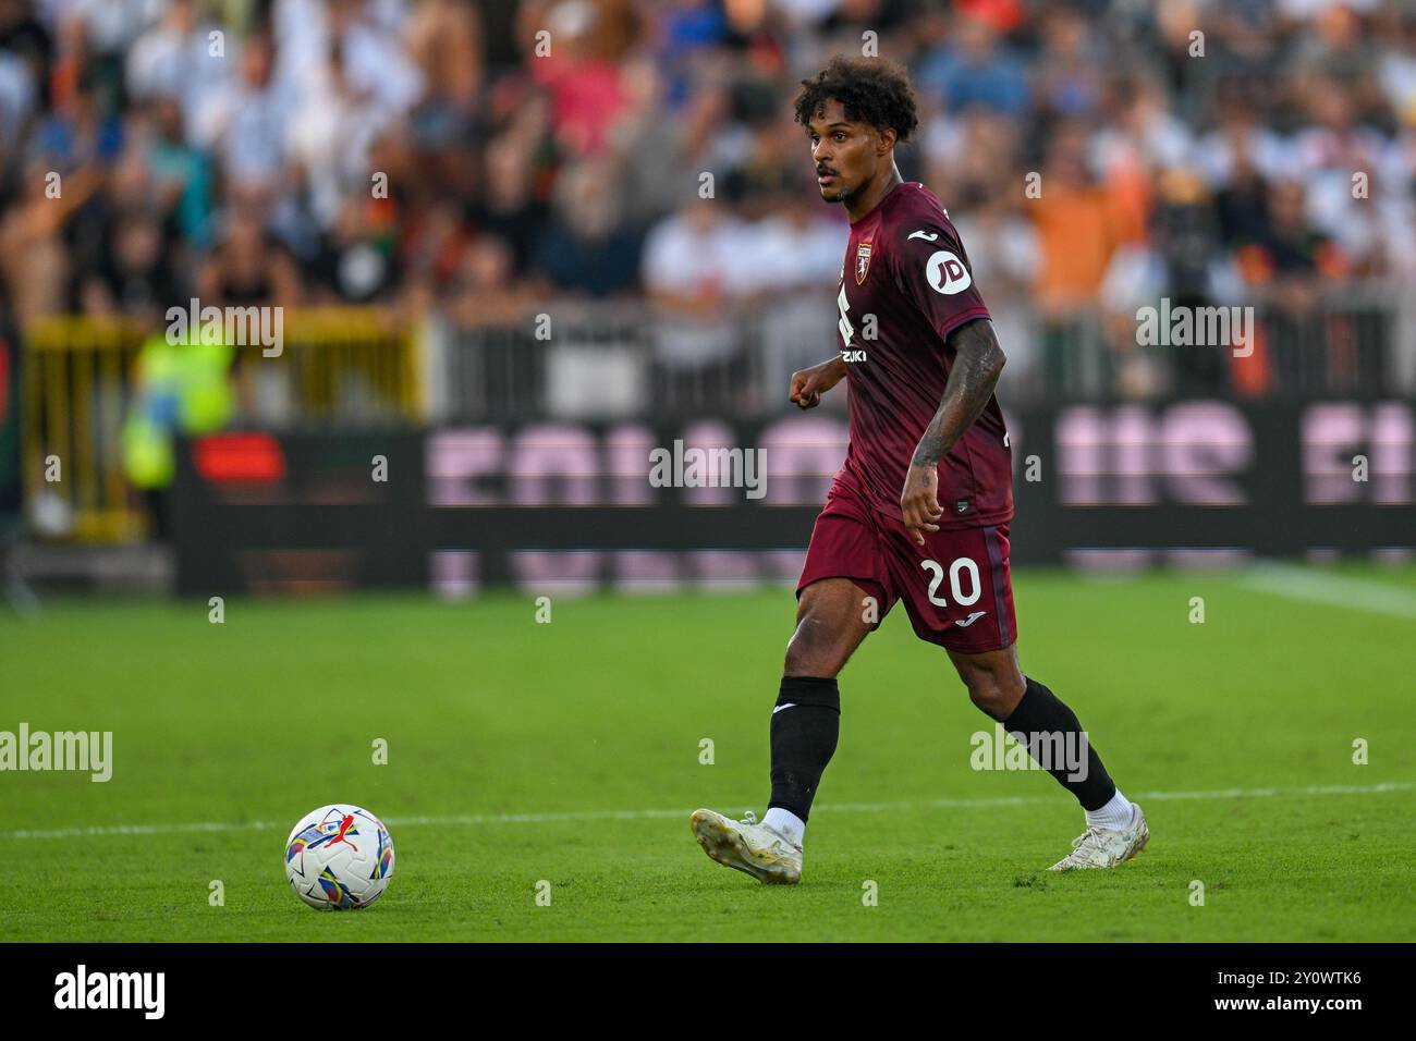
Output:
[[[1416,282],[1400,0],[0,0],[0,300],[470,326],[830,289],[790,102],[862,47],[910,69],[902,173],[995,313]]]

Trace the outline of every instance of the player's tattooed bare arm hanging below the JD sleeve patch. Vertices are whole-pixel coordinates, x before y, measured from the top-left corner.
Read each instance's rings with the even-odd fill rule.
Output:
[[[926,531],[939,531],[935,521],[943,513],[939,508],[939,460],[949,455],[983,412],[1007,361],[993,322],[986,317],[959,326],[946,343],[954,350],[954,364],[949,370],[939,411],[915,448],[899,497],[905,527],[920,545]]]

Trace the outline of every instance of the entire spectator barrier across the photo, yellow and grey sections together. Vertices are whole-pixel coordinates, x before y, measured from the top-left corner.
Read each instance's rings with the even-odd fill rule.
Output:
[[[1257,358],[1223,347],[1137,347],[1127,316],[1048,319],[994,302],[1011,408],[1214,394],[1301,401],[1416,391],[1416,295],[1328,286],[1296,313],[1256,302]],[[24,489],[41,531],[84,541],[142,537],[146,511],[123,479],[120,428],[144,330],[86,317],[24,337]],[[279,357],[239,348],[238,423],[273,431],[542,418],[762,418],[787,408],[790,374],[837,350],[824,290],[708,317],[647,303],[547,302],[511,324],[412,330],[378,309],[290,312]],[[1158,378],[1127,382],[1140,358]],[[844,395],[826,399],[840,411]],[[61,482],[45,459],[61,460]]]

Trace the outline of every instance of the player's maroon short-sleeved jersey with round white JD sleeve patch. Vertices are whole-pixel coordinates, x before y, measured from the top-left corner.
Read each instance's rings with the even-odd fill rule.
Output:
[[[918,181],[896,184],[851,222],[835,302],[851,412],[851,446],[838,480],[898,518],[905,472],[939,411],[954,360],[944,337],[988,317],[969,255],[935,193]],[[997,398],[939,460],[939,506],[940,528],[1012,518],[1012,453]]]

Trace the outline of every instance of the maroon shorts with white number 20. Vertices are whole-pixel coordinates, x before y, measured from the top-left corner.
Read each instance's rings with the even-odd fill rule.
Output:
[[[981,654],[1018,639],[1007,524],[926,531],[919,545],[903,520],[882,517],[837,482],[811,528],[797,596],[823,578],[860,585],[879,620],[905,601],[915,635],[949,650]]]

